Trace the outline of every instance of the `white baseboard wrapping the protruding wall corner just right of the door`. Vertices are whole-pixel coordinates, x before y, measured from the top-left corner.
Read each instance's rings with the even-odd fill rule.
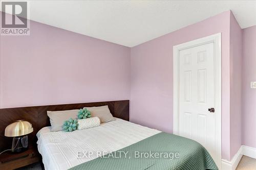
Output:
[[[231,161],[222,159],[221,170],[236,170],[239,161],[243,156],[243,146],[238,150],[237,154],[233,156]]]

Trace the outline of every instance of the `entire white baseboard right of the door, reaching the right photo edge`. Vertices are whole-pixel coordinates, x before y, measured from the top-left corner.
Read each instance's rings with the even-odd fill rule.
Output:
[[[241,148],[238,150],[237,154],[233,156],[231,161],[222,159],[221,170],[236,170],[238,163],[243,155],[256,159],[256,148],[242,145]]]

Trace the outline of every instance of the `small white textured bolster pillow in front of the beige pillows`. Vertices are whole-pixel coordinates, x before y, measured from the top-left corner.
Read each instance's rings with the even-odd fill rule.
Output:
[[[89,129],[89,128],[99,126],[100,119],[99,117],[83,118],[83,119],[78,119],[77,123],[78,123],[78,127],[77,127],[78,130]]]

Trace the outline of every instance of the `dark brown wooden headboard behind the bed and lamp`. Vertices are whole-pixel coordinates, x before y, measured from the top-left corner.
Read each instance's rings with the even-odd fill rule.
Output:
[[[108,105],[114,117],[122,118],[129,121],[129,100],[111,101],[111,102],[94,102],[94,103],[78,103],[50,106],[32,106],[0,109],[0,151],[11,148],[12,138],[5,136],[5,128],[15,122],[15,120],[28,120],[34,131],[29,134],[29,142],[36,143],[36,133],[43,127],[50,126],[50,119],[47,111],[72,110],[83,107],[104,106]]]

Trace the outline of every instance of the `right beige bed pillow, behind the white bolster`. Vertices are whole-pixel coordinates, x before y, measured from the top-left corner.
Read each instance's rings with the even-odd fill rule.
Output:
[[[108,105],[99,107],[85,107],[91,112],[92,117],[99,117],[100,123],[110,122],[115,120],[112,116]]]

